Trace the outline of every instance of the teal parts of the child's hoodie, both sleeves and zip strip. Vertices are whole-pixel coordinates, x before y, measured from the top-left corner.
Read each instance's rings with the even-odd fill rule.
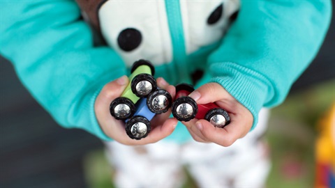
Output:
[[[191,82],[195,70],[204,70],[199,83],[221,84],[251,111],[253,127],[260,109],[283,102],[311,63],[332,12],[327,0],[242,0],[223,38],[186,53],[184,7],[177,0],[165,1],[165,6],[173,55],[156,65],[156,77],[178,84]],[[60,125],[110,140],[98,125],[94,101],[107,82],[129,73],[123,56],[117,49],[94,46],[75,1],[1,0],[0,7],[0,52],[31,95]],[[185,130],[177,137],[189,138]]]

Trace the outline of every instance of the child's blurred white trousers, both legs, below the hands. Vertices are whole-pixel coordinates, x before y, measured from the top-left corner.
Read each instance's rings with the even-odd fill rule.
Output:
[[[160,141],[147,146],[106,143],[107,158],[117,171],[117,187],[181,187],[183,166],[199,187],[263,187],[270,169],[265,133],[269,110],[262,109],[258,126],[224,148],[189,141],[184,145]]]

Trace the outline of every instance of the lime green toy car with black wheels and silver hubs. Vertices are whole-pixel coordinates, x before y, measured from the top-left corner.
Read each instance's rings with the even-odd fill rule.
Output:
[[[118,120],[126,120],[135,113],[135,104],[140,97],[147,97],[156,91],[157,84],[153,75],[154,66],[149,61],[139,60],[133,64],[128,84],[121,97],[110,104],[110,114]]]

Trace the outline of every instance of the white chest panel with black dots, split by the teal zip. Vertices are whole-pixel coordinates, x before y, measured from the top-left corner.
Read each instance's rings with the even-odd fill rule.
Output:
[[[223,15],[215,24],[208,25],[209,15],[223,3]],[[238,0],[180,1],[186,54],[211,45],[223,37],[228,29],[228,18],[239,9]],[[103,3],[98,10],[101,32],[108,45],[121,55],[128,67],[140,58],[154,65],[172,61],[172,41],[168,26],[165,1],[118,1]],[[173,21],[172,21],[173,22]],[[117,38],[124,29],[140,31],[142,42],[131,52],[119,48]]]

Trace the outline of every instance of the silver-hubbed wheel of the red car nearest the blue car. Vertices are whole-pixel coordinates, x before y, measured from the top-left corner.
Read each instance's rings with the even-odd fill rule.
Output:
[[[180,121],[189,121],[195,118],[198,106],[191,97],[179,97],[172,103],[172,115]]]

